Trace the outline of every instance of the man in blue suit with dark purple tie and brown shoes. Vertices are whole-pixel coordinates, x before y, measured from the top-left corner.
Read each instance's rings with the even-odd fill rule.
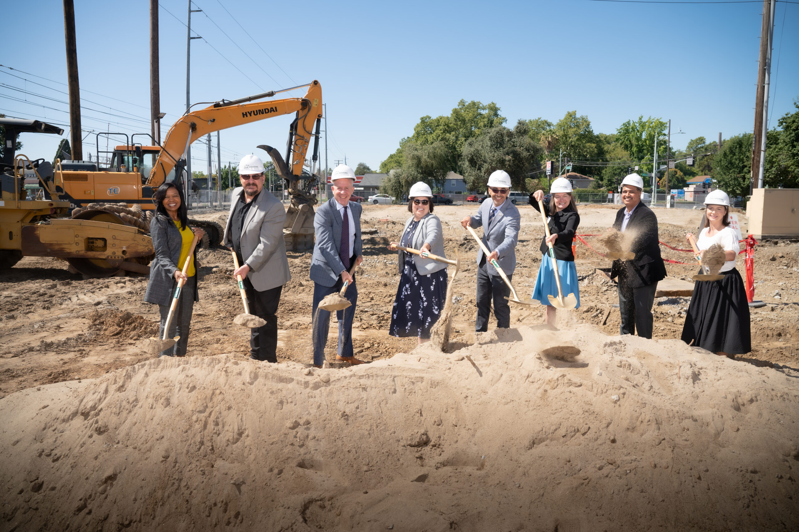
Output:
[[[344,297],[351,306],[336,311],[339,320],[339,348],[336,360],[363,364],[352,354],[352,318],[358,302],[358,286],[349,274],[352,266],[364,260],[363,242],[360,239],[359,203],[349,201],[354,189],[355,172],[347,165],[336,166],[331,174],[333,198],[316,210],[313,227],[316,244],[311,258],[313,281],[313,365],[322,367],[324,346],[328,343],[330,311],[319,308],[325,296],[341,290],[348,282]]]

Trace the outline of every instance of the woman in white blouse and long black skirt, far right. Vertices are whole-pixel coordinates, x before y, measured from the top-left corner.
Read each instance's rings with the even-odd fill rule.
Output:
[[[724,278],[694,284],[682,341],[735,358],[736,354],[752,350],[749,303],[741,274],[735,269],[741,246],[729,226],[729,196],[723,190],[714,190],[707,195],[705,205],[705,228],[699,234],[697,247],[701,253],[714,244],[724,249],[726,262],[719,272]],[[686,239],[693,236],[686,234]]]

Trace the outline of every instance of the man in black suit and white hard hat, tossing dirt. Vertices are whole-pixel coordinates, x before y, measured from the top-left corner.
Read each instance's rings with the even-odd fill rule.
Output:
[[[658,217],[641,202],[644,182],[640,175],[630,174],[622,181],[624,208],[616,213],[614,229],[632,237],[630,261],[616,260],[610,277],[618,277],[618,310],[622,314],[619,334],[635,334],[652,338],[652,304],[658,281],[666,277],[666,266],[658,244]]]

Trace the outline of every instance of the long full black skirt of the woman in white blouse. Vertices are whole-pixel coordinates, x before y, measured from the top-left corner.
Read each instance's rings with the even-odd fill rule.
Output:
[[[752,332],[744,282],[734,268],[721,274],[718,281],[694,284],[682,341],[694,340],[692,345],[711,353],[746,354],[752,350]]]

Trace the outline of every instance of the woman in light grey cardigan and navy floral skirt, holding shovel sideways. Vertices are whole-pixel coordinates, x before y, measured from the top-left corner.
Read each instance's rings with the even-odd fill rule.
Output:
[[[444,238],[441,221],[433,212],[433,193],[423,182],[411,186],[407,210],[413,216],[405,222],[400,242],[396,246],[411,247],[444,257]],[[430,329],[438,321],[447,297],[447,265],[431,258],[405,253],[400,250],[400,286],[394,299],[392,323],[388,332],[392,336],[415,336],[419,344],[430,340]]]

